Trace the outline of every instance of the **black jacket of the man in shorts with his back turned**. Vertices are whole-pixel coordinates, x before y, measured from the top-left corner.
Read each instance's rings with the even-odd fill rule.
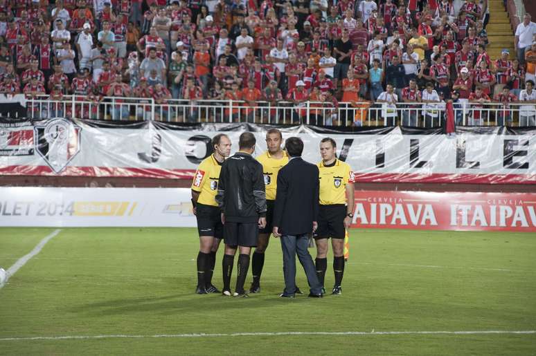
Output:
[[[225,215],[225,221],[256,223],[260,217],[265,217],[267,208],[262,165],[244,152],[237,152],[225,160],[216,202]]]

